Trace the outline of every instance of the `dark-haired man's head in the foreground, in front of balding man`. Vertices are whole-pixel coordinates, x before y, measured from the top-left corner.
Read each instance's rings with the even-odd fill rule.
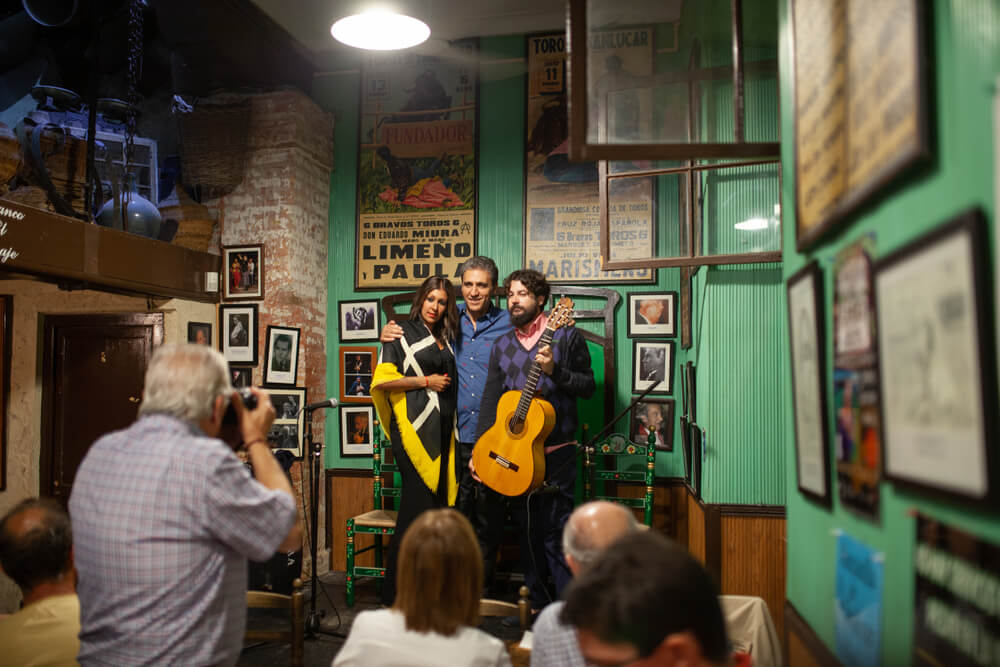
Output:
[[[711,576],[651,531],[626,535],[573,580],[560,620],[590,665],[730,664]]]

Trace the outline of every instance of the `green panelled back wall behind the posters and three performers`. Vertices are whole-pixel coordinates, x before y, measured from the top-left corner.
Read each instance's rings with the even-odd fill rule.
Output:
[[[480,75],[477,250],[493,257],[501,274],[505,274],[520,268],[522,261],[524,38],[483,38],[480,49],[485,54],[485,62]],[[661,56],[670,57],[669,54]],[[353,291],[358,81],[357,61],[341,57],[331,64],[328,72],[317,78],[313,90],[314,99],[336,116],[328,277],[327,384],[331,393],[338,386],[339,377],[337,301],[358,298]],[[773,100],[771,104],[774,105]],[[768,122],[775,123],[773,115]],[[761,207],[765,200],[765,208],[772,207],[777,196],[777,174],[772,170],[755,178],[760,179],[763,190],[755,187],[745,175],[737,179],[722,178],[716,183],[706,182],[706,192],[715,193],[709,214],[728,221],[731,229],[734,222],[747,217],[750,208]],[[661,195],[667,197],[669,193],[661,191]],[[661,206],[661,210],[675,210],[675,207]],[[736,217],[741,215],[743,217]],[[721,228],[712,223],[708,226]],[[666,230],[661,230],[658,238],[660,251],[665,250],[668,243],[676,245],[676,234]],[[734,238],[728,242],[737,242]],[[736,268],[735,271],[703,268],[697,274],[694,290],[696,343],[691,350],[682,351],[678,337],[677,360],[681,363],[690,359],[699,366],[699,416],[709,434],[706,499],[782,504],[785,440],[781,428],[784,406],[779,398],[783,395],[780,382],[787,364],[781,301],[784,291],[774,265]],[[679,281],[678,269],[661,269],[656,285],[614,289],[622,295],[624,303],[630,291],[679,290]],[[383,293],[367,295],[381,297]],[[624,408],[631,400],[632,340],[625,335],[625,316],[625,307],[620,307],[615,318],[618,332],[616,409]],[[739,323],[736,330],[731,326],[733,322]],[[716,327],[719,333],[713,337],[708,330]],[[739,336],[735,336],[737,331]],[[733,336],[722,332],[731,332]],[[679,381],[680,373],[676,372],[675,377]],[[677,401],[676,414],[679,416],[679,386],[675,387],[673,398]],[[339,425],[332,416],[330,413],[326,427],[327,467],[367,467],[366,459],[339,456]],[[600,425],[590,423],[592,429]],[[675,451],[657,456],[659,476],[683,475],[678,427],[675,420]],[[627,430],[625,420],[620,430]]]

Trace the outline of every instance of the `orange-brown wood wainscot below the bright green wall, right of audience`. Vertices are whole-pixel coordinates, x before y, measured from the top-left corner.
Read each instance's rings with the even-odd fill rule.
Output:
[[[763,598],[781,636],[785,603],[785,520],[723,515],[723,594]]]

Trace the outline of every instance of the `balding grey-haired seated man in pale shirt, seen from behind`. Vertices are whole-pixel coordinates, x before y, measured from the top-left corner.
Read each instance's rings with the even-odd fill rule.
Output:
[[[615,540],[636,530],[632,511],[623,505],[595,500],[580,505],[563,528],[563,553],[577,576]],[[532,628],[532,667],[584,667],[576,631],[559,620],[563,602],[550,604]]]

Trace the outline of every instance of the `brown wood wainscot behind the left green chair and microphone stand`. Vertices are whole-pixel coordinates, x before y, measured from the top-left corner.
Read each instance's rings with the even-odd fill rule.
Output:
[[[347,569],[345,534],[347,520],[352,516],[374,509],[372,499],[371,470],[331,468],[326,471],[326,536],[330,549],[330,569],[344,572]],[[354,536],[355,549],[370,546],[371,535]],[[375,564],[372,552],[357,558],[358,565],[371,567]]]

